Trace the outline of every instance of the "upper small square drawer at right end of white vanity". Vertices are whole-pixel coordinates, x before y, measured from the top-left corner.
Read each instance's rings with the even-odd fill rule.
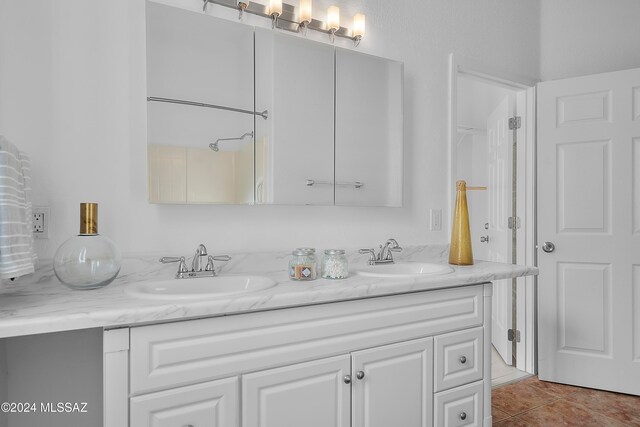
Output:
[[[482,327],[439,335],[434,341],[434,390],[444,391],[482,379]]]

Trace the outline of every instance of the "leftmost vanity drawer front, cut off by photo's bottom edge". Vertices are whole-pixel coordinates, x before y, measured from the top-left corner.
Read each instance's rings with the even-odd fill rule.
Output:
[[[235,427],[238,378],[227,378],[131,398],[131,427]]]

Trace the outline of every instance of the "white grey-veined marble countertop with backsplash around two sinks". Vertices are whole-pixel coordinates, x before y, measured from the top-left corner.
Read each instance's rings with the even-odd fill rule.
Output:
[[[446,264],[446,251],[446,246],[408,248],[396,259]],[[45,265],[33,275],[5,283],[0,288],[0,338],[221,316],[441,289],[538,273],[535,267],[476,261],[472,266],[453,266],[450,274],[424,278],[382,279],[354,274],[344,280],[294,282],[286,272],[289,253],[232,254],[232,257],[222,266],[221,276],[261,274],[275,280],[277,285],[241,295],[173,302],[137,298],[125,292],[135,283],[173,277],[176,266],[161,265],[154,256],[126,258],[113,283],[89,291],[68,289],[55,277],[52,266]],[[366,257],[357,252],[349,258],[352,269],[365,266]]]

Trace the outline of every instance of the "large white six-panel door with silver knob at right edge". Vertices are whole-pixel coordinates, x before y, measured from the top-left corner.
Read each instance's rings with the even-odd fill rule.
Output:
[[[640,394],[640,69],[538,93],[540,378]]]

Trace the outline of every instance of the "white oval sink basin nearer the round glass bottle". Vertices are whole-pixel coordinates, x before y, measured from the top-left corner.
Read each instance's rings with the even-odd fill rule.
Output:
[[[215,298],[260,291],[276,282],[262,276],[216,276],[139,283],[127,287],[129,295],[161,300]]]

